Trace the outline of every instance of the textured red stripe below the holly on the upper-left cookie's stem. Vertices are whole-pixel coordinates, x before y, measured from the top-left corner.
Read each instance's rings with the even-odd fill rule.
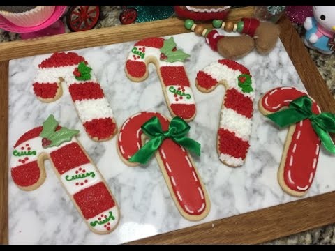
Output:
[[[100,84],[94,82],[86,82],[83,84],[70,84],[68,86],[73,102],[75,100],[97,99],[103,98],[103,89]]]

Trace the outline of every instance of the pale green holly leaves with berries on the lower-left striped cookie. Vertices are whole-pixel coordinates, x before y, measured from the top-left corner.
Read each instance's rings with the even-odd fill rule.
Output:
[[[71,130],[66,127],[56,130],[58,124],[53,115],[48,116],[47,120],[43,122],[43,130],[40,132],[43,148],[59,146],[63,142],[69,142],[74,135],[79,133],[79,130]]]

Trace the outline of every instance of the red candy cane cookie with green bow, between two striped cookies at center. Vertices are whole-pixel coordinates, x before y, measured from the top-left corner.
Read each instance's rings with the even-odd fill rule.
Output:
[[[154,123],[161,126],[154,126]],[[181,128],[177,129],[177,126]],[[179,117],[170,122],[159,113],[140,112],[124,122],[119,132],[117,149],[121,160],[132,167],[139,165],[139,162],[146,162],[155,153],[172,199],[181,215],[188,220],[201,220],[209,213],[210,202],[193,160],[181,141],[187,142],[188,148],[191,144],[195,144],[197,148],[198,143],[194,143],[192,139],[179,138],[188,130],[188,124]],[[143,132],[145,135],[151,135],[146,144]],[[176,137],[163,136],[170,133],[175,133]],[[161,140],[161,144],[158,144],[157,140]],[[157,150],[151,150],[151,155],[148,155],[147,149],[144,148],[150,149],[153,145]],[[200,154],[200,144],[198,145]],[[139,159],[145,160],[143,162]]]

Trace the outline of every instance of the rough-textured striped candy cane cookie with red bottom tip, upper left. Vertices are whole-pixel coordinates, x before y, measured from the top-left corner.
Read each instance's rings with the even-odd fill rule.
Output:
[[[55,52],[38,65],[34,93],[42,102],[62,95],[65,82],[77,114],[91,139],[105,141],[117,133],[112,108],[84,57],[74,52]]]

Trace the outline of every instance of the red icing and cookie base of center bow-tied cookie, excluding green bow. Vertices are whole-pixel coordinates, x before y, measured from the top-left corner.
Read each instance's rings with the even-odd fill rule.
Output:
[[[170,121],[156,112],[135,114],[121,127],[117,150],[126,165],[135,167],[139,164],[129,162],[129,159],[141,149],[147,139],[141,126],[153,116],[158,117],[163,131],[168,130]],[[184,147],[167,138],[155,155],[179,213],[187,220],[201,220],[206,217],[210,208],[209,197],[194,162]]]

